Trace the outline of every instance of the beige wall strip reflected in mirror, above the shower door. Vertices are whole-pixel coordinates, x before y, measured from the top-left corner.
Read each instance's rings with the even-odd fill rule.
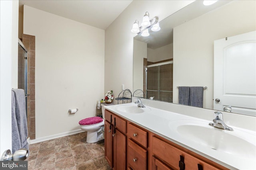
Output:
[[[157,49],[148,48],[148,61],[157,62],[173,58],[173,43]]]

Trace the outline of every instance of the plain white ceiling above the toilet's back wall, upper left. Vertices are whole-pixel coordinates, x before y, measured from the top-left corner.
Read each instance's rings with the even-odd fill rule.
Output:
[[[19,0],[23,5],[106,29],[132,0]]]

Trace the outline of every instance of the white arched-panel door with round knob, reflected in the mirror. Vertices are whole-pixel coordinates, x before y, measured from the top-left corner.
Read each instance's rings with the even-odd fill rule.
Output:
[[[256,116],[256,31],[214,41],[214,110],[227,106]]]

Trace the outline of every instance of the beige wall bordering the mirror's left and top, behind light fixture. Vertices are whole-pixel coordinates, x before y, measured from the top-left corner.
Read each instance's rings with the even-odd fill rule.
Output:
[[[145,12],[150,18],[163,20],[170,14],[190,4],[187,1],[138,0],[133,1],[105,30],[105,91],[113,90],[114,96],[124,88],[133,91],[133,37],[131,32],[135,20],[141,23]],[[114,103],[117,103],[114,100]]]

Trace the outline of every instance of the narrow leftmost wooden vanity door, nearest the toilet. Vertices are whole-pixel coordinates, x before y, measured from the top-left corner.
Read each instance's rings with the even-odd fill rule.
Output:
[[[113,160],[112,160],[112,125],[105,121],[105,158],[109,164],[109,166],[113,167]]]

